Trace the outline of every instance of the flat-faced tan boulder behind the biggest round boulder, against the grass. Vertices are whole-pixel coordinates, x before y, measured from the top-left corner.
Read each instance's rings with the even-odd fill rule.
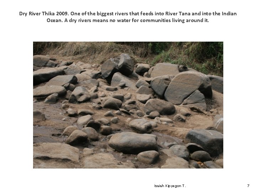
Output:
[[[162,75],[177,75],[182,71],[188,71],[186,66],[175,65],[171,63],[158,63],[155,65],[150,76],[157,77]]]

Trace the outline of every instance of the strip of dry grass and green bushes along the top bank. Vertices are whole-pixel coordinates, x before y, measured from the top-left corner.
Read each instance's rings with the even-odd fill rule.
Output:
[[[34,42],[33,54],[104,63],[127,53],[135,63],[168,62],[223,76],[223,42]]]

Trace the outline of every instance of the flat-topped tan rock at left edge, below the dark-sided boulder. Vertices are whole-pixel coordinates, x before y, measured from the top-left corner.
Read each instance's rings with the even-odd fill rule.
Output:
[[[54,93],[57,93],[59,96],[64,96],[66,94],[66,89],[63,86],[56,85],[45,85],[33,89],[33,97],[47,97]]]

